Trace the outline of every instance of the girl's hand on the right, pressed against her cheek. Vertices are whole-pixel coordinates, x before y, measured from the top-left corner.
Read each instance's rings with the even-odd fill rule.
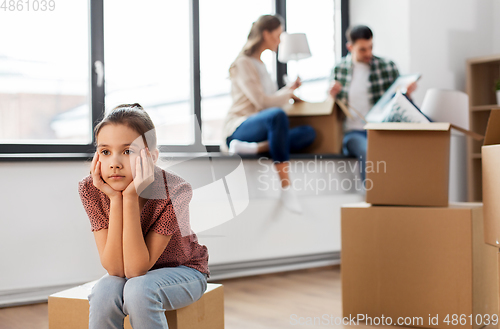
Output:
[[[124,196],[137,197],[155,180],[154,162],[149,149],[142,149],[135,159],[135,177],[123,191]]]

